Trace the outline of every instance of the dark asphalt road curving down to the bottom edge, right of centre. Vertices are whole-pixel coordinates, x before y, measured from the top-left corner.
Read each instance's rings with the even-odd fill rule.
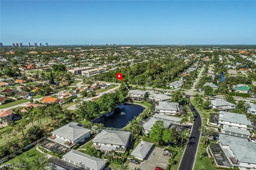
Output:
[[[194,106],[190,107],[190,109],[191,111],[194,111],[196,114],[194,117],[194,125],[192,128],[192,132],[190,134],[186,150],[184,151],[183,158],[180,162],[179,170],[192,170],[200,137],[200,132],[198,131],[199,127],[201,127],[202,125],[200,114],[198,113]]]

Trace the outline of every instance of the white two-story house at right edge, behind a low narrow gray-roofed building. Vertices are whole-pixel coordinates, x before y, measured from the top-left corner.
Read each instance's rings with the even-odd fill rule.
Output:
[[[246,115],[227,111],[219,111],[218,126],[220,125],[244,130],[252,129],[252,123],[250,119],[246,118]]]

